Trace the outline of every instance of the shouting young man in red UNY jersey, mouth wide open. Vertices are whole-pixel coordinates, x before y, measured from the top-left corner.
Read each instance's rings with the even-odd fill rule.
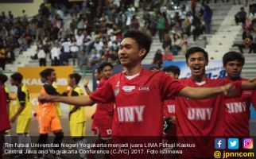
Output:
[[[205,52],[203,48],[189,48],[185,57],[192,76],[185,80],[179,80],[180,83],[189,87],[218,87],[228,83],[227,80],[212,80],[206,76],[208,52]],[[235,82],[237,89],[233,96],[241,95],[241,90],[255,89],[255,80],[252,80],[251,83],[253,84]],[[184,150],[181,158],[212,158],[214,138],[224,136],[226,127],[224,99],[226,98],[225,95],[216,95],[208,99],[176,96],[178,142],[188,143],[192,146],[192,148],[180,148]]]

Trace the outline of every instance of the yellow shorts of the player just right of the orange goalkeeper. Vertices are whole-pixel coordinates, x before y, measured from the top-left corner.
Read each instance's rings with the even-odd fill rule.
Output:
[[[69,122],[69,130],[72,138],[85,137],[86,122]]]

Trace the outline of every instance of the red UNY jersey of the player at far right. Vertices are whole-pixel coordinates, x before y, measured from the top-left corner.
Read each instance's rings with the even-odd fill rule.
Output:
[[[234,82],[226,78],[229,82]],[[246,81],[240,79],[239,81]],[[225,135],[232,137],[250,136],[250,103],[256,107],[256,91],[242,91],[237,98],[225,99],[226,105],[226,130]]]

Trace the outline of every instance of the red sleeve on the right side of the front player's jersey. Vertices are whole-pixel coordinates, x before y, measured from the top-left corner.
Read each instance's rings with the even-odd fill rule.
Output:
[[[173,99],[173,97],[180,92],[185,86],[180,83],[178,80],[173,80],[171,76],[162,74],[161,80],[162,90],[161,97],[162,99]]]

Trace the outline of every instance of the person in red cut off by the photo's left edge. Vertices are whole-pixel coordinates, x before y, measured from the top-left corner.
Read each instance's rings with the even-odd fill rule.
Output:
[[[2,147],[5,142],[5,131],[10,129],[10,120],[8,118],[7,112],[7,98],[6,98],[6,91],[4,88],[4,81],[6,81],[6,76],[0,74],[0,159],[2,159]]]

